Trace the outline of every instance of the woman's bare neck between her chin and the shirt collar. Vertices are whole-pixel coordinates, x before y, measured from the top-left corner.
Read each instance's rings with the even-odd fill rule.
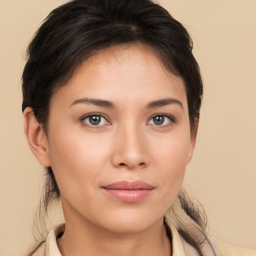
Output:
[[[57,239],[62,256],[170,256],[171,243],[163,219],[145,230],[114,232],[82,217],[65,216],[66,229]]]

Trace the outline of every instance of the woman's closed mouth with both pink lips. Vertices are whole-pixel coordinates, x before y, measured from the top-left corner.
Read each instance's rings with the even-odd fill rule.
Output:
[[[141,180],[117,181],[102,187],[105,193],[124,202],[140,201],[151,194],[154,188],[153,185]]]

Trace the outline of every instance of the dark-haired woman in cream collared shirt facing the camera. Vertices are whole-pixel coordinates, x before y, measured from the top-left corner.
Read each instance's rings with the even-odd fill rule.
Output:
[[[22,110],[47,168],[44,203],[61,199],[65,225],[31,255],[239,252],[205,233],[181,189],[202,97],[191,50],[149,0],[74,0],[49,14],[28,47]]]

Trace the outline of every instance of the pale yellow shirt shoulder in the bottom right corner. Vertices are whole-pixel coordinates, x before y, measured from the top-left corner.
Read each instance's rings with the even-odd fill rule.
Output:
[[[222,256],[256,256],[256,249],[243,248],[211,236]]]

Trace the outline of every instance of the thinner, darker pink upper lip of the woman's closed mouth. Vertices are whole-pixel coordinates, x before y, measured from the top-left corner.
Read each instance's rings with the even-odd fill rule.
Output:
[[[103,186],[103,188],[106,189],[123,189],[123,190],[137,190],[137,189],[154,189],[154,186],[151,184],[146,183],[142,180],[136,180],[136,181],[116,181],[111,184]]]

